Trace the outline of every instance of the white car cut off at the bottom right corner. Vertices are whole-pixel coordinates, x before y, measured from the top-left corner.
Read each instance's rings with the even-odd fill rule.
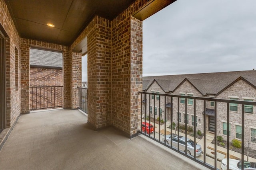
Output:
[[[221,160],[221,169],[227,170],[227,158]],[[241,170],[242,161],[236,159],[229,159],[229,169],[230,170]],[[244,161],[244,170],[256,170],[256,162],[246,162]]]

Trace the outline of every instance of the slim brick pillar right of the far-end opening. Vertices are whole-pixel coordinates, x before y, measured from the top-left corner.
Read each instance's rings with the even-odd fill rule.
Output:
[[[71,74],[71,101],[72,109],[78,108],[78,87],[82,84],[82,54],[72,53],[70,54],[70,68],[72,69]]]

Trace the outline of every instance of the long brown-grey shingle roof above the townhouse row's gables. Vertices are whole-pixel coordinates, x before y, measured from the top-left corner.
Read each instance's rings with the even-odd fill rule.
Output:
[[[202,94],[217,94],[239,77],[243,77],[256,86],[256,70],[232,71],[232,72],[212,72],[200,74],[180,74],[168,76],[148,76],[143,77],[143,90],[146,90],[150,84],[144,85],[144,81],[156,80],[164,91],[173,92],[175,88],[186,78]],[[169,84],[169,86],[167,85]]]

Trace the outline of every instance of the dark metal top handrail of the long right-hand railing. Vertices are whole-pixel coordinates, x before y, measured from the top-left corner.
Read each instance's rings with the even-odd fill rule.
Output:
[[[196,99],[196,100],[206,100],[211,102],[223,102],[223,103],[234,103],[234,104],[245,104],[256,106],[256,102],[244,101],[244,100],[230,100],[230,99],[221,99],[221,98],[210,98],[210,97],[198,97],[198,96],[182,96],[177,94],[164,94],[164,93],[152,93],[152,92],[138,92],[138,94],[151,94],[154,96],[168,96],[175,98],[186,98],[186,99]]]

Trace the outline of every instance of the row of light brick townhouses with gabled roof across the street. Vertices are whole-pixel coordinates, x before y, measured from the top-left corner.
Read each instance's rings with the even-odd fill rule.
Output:
[[[184,96],[198,96],[210,98],[222,98],[231,100],[255,101],[256,98],[256,71],[236,71],[236,72],[216,72],[202,74],[183,74],[170,76],[151,76],[143,77],[143,90],[146,92],[156,92],[162,94],[175,94]],[[143,96],[144,98],[144,96]],[[147,99],[149,97],[147,96]],[[161,119],[164,119],[164,108],[166,106],[166,119],[170,120],[170,109],[173,109],[173,121],[177,123],[179,120],[184,124],[185,116],[187,116],[187,124],[194,126],[194,100],[187,100],[187,115],[185,115],[185,99],[173,98],[172,104],[170,97],[150,96],[150,101],[143,100],[144,106],[146,102],[146,113],[156,113]],[[160,107],[159,107],[160,101]],[[178,102],[180,113],[178,114]],[[150,106],[149,106],[150,105]],[[214,132],[217,128],[217,135],[221,135],[226,139],[228,133],[226,129],[227,109],[226,104],[217,102],[217,117],[214,110],[214,102],[206,101],[206,129]],[[155,110],[154,106],[156,107]],[[241,139],[241,117],[242,106],[230,104],[230,139]],[[145,107],[142,108],[143,111]],[[256,107],[245,105],[245,136],[249,141],[256,143]],[[153,116],[153,114],[152,114]],[[178,118],[179,117],[179,118]],[[216,117],[217,125],[214,124]],[[204,102],[196,100],[196,130],[203,131],[204,118]]]

